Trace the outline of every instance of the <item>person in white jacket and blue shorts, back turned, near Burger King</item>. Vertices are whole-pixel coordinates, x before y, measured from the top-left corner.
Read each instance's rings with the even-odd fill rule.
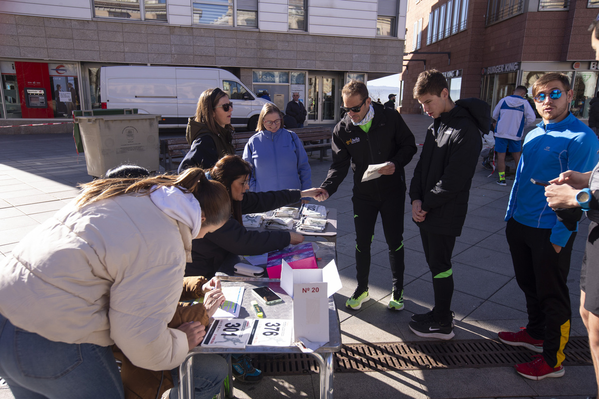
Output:
[[[534,123],[535,115],[528,101],[524,98],[528,89],[516,87],[512,96],[502,98],[493,110],[493,118],[497,121],[495,128],[495,151],[497,152],[497,184],[506,185],[506,152],[514,157],[516,167],[522,154],[522,132]]]

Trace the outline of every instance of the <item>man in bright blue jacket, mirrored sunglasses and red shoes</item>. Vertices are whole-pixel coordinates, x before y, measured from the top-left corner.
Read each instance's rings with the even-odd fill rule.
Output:
[[[567,278],[576,237],[547,206],[544,187],[531,179],[550,181],[566,170],[585,172],[597,163],[595,133],[570,113],[570,80],[550,72],[533,84],[533,99],[543,118],[527,134],[506,213],[506,238],[518,286],[524,291],[528,324],[517,333],[502,331],[501,342],[539,352],[536,359],[516,364],[523,377],[541,380],[564,375],[564,346],[570,335],[570,294]]]

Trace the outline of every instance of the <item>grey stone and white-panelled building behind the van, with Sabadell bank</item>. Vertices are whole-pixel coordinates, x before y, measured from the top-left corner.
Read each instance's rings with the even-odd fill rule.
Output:
[[[110,65],[226,69],[308,123],[339,118],[351,78],[401,71],[406,0],[13,0],[0,13],[0,129],[29,133],[100,108]],[[223,88],[224,89],[224,88]],[[198,93],[199,96],[200,93]],[[191,115],[187,115],[191,116]],[[64,131],[44,125],[44,132]],[[68,126],[68,125],[66,125]]]

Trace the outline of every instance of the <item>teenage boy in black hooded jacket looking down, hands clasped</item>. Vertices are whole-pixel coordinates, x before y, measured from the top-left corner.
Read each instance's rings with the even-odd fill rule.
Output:
[[[418,76],[414,98],[434,118],[414,170],[410,199],[432,273],[435,306],[428,313],[412,315],[410,330],[420,337],[447,340],[454,336],[453,246],[468,211],[470,184],[482,147],[479,130],[489,131],[491,108],[479,99],[454,103],[447,81],[435,69]]]

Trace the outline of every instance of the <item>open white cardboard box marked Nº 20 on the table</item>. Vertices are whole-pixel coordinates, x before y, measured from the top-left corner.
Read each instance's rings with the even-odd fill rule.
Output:
[[[294,300],[294,340],[329,342],[329,297],[341,289],[337,265],[322,269],[292,269],[283,260],[281,287]]]

